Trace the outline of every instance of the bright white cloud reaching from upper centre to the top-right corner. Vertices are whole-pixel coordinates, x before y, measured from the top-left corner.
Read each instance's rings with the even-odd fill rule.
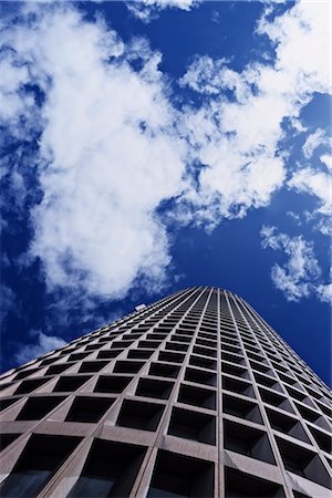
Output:
[[[268,205],[283,185],[283,123],[297,123],[315,92],[330,91],[328,9],[323,3],[298,2],[270,20],[269,7],[257,34],[270,39],[273,63],[250,63],[236,72],[225,60],[204,55],[181,77],[183,86],[204,95],[200,108],[186,110],[183,125],[205,165],[198,195],[189,191],[187,200],[209,224]],[[231,98],[226,98],[225,90]]]

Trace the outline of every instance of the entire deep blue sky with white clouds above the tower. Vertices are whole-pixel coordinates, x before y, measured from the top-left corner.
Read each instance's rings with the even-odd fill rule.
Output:
[[[328,2],[2,2],[1,370],[188,286],[331,383]]]

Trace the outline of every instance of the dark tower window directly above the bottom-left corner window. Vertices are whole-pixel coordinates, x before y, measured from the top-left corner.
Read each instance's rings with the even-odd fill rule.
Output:
[[[75,397],[65,421],[96,423],[107,412],[114,401],[108,397]]]

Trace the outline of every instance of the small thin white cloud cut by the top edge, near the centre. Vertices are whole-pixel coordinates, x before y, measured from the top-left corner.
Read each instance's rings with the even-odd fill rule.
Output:
[[[156,19],[160,10],[174,8],[190,10],[200,3],[200,0],[138,0],[126,1],[127,9],[141,21],[148,23]]]

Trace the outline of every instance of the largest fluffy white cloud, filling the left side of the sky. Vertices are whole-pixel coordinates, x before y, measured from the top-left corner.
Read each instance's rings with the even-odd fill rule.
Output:
[[[2,51],[2,69],[11,102],[3,121],[40,133],[43,198],[32,211],[31,253],[49,289],[121,298],[138,277],[158,287],[170,257],[155,209],[179,194],[184,172],[159,54],[142,42],[125,48],[70,7],[28,9],[3,30],[11,50]]]

